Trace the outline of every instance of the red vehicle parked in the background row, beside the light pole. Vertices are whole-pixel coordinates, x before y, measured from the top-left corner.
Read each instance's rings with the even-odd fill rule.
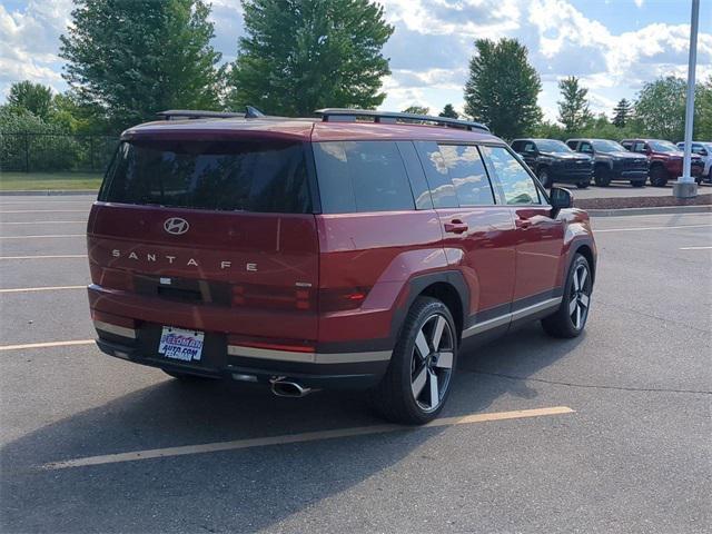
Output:
[[[683,152],[672,142],[662,139],[623,139],[621,145],[632,152],[647,156],[651,185],[663,187],[668,181],[682,176]],[[691,164],[690,174],[700,184],[704,162],[700,156],[693,155]]]

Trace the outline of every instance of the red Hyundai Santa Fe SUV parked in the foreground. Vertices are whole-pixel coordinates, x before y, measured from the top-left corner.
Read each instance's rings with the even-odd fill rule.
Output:
[[[596,249],[567,190],[475,122],[318,113],[123,132],[88,222],[105,353],[284,396],[367,388],[421,424],[467,342],[582,332]]]

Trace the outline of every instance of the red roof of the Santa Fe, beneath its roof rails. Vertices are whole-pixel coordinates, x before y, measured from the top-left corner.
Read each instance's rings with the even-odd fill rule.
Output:
[[[181,138],[181,139],[236,139],[271,137],[296,141],[338,140],[432,140],[495,142],[504,145],[498,137],[484,130],[466,130],[431,125],[385,122],[332,122],[318,118],[199,118],[157,120],[127,129],[121,138]]]

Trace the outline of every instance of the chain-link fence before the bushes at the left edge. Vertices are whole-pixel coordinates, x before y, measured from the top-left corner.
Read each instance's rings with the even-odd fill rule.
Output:
[[[0,132],[0,170],[103,172],[117,137]]]

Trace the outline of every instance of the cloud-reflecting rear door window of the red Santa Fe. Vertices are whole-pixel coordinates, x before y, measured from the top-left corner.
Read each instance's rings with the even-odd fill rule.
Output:
[[[461,206],[494,204],[494,192],[485,165],[475,146],[441,145],[441,154]]]

